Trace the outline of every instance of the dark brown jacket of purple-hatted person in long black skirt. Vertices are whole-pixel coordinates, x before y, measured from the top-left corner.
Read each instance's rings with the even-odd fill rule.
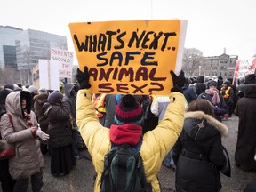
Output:
[[[61,104],[55,103],[52,105],[46,102],[43,106],[43,111],[49,121],[48,145],[52,148],[62,148],[72,144],[72,128],[68,102],[62,101]]]

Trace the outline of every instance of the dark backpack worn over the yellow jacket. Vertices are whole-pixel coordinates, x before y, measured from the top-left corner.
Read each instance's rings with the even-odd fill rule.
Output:
[[[113,146],[105,156],[101,176],[101,192],[152,191],[147,183],[140,156],[141,141],[137,146],[124,143]]]

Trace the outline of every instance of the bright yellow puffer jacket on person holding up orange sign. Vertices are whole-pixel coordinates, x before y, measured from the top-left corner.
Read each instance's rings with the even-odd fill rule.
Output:
[[[76,122],[92,156],[92,164],[97,172],[94,191],[100,191],[101,174],[104,167],[104,156],[111,148],[110,130],[103,127],[93,108],[92,93],[88,90],[80,90],[76,101]],[[160,191],[157,173],[162,161],[180,135],[183,126],[185,112],[185,98],[179,92],[170,95],[170,104],[166,109],[162,124],[156,126],[153,131],[143,135],[140,156],[149,183],[153,191]],[[137,125],[138,126],[138,125]]]

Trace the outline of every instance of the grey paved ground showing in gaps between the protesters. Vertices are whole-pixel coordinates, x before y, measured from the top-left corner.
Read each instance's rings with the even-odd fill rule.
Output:
[[[223,192],[242,192],[245,185],[256,180],[256,172],[244,172],[236,167],[234,163],[234,154],[236,149],[236,130],[238,124],[238,118],[236,116],[231,117],[224,124],[228,125],[229,133],[228,137],[223,139],[223,144],[228,149],[228,153],[232,165],[232,175],[230,178],[220,174],[222,181]],[[86,150],[81,151],[82,154],[89,156]],[[47,192],[91,192],[93,191],[92,177],[94,170],[92,162],[86,159],[80,159],[76,161],[76,167],[70,172],[69,175],[62,177],[53,177],[50,174],[50,157],[44,156],[44,191]],[[161,168],[159,172],[159,180],[163,192],[175,191],[175,172],[165,168]],[[1,191],[1,189],[0,189]]]

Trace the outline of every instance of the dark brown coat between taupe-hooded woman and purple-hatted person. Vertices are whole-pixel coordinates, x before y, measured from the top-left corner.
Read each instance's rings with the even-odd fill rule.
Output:
[[[44,115],[43,105],[47,102],[48,94],[39,94],[34,97],[34,111],[38,123],[40,124],[41,130],[43,132],[48,132],[48,119]]]

